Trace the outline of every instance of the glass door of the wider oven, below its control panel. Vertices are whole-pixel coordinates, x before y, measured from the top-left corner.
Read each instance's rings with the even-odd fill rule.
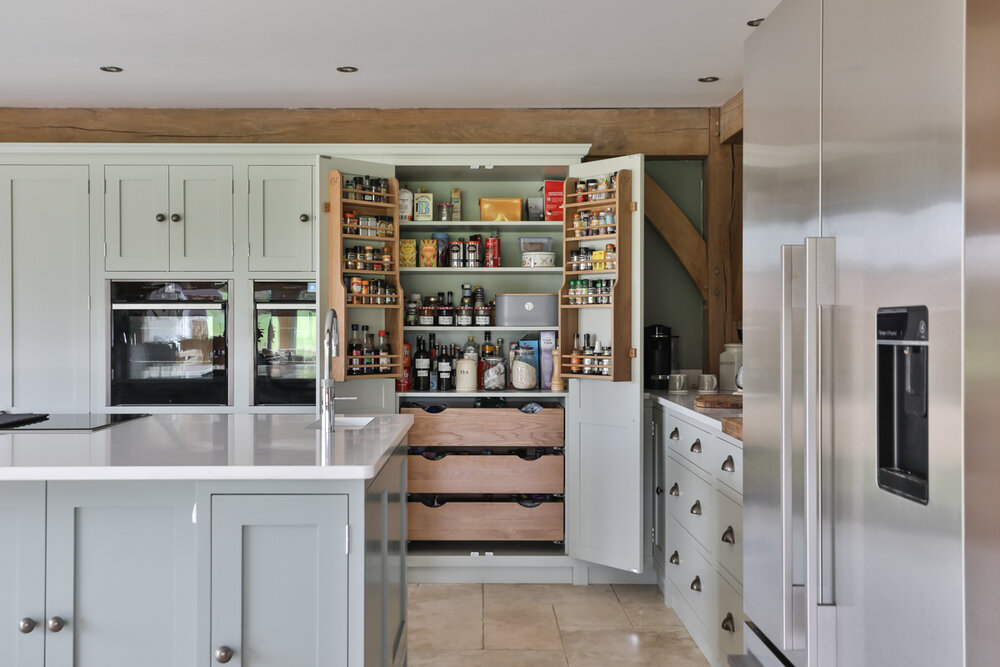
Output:
[[[222,303],[111,306],[111,405],[227,405]]]

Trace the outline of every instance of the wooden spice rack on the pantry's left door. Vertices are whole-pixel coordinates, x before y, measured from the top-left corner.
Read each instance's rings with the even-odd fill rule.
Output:
[[[399,181],[395,178],[386,179],[388,187],[386,192],[374,192],[371,190],[358,190],[347,187],[344,174],[339,171],[331,171],[329,177],[330,208],[329,208],[329,307],[334,308],[341,315],[338,322],[338,333],[340,334],[341,346],[347,345],[348,332],[351,324],[366,324],[374,327],[372,333],[377,334],[379,329],[384,329],[389,338],[391,354],[388,356],[389,364],[380,365],[379,355],[361,357],[363,370],[386,369],[390,372],[365,372],[351,374],[347,361],[347,355],[340,355],[334,361],[333,378],[341,382],[344,380],[357,380],[362,378],[399,378],[403,376],[402,355],[403,349],[403,289],[399,282]],[[365,200],[370,196],[372,200]],[[350,197],[350,198],[348,198]],[[345,224],[344,214],[354,211],[358,215],[376,216],[391,218],[388,226],[378,227],[362,225],[357,222]],[[381,232],[383,236],[378,236]],[[387,235],[385,235],[387,234]],[[382,263],[381,269],[365,268],[359,269],[355,265],[348,268],[348,260],[345,257],[344,249],[354,244],[352,241],[364,242],[365,245],[377,245],[378,250],[388,248],[391,259],[388,265]],[[355,260],[357,261],[357,260]],[[386,303],[384,295],[366,295],[354,293],[344,282],[345,276],[371,276],[386,282],[386,287],[395,290],[395,301]],[[382,303],[378,303],[381,299]],[[371,301],[369,301],[371,300]],[[378,316],[379,311],[382,315]],[[357,359],[357,357],[355,357]],[[365,361],[375,363],[365,363]]]

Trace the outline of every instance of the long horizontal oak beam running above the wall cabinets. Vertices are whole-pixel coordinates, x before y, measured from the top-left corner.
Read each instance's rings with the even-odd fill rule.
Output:
[[[0,108],[4,142],[589,143],[591,157],[699,159],[709,131],[704,108]]]

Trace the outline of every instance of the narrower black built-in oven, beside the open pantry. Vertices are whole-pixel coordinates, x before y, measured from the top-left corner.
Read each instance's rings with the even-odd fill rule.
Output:
[[[254,405],[315,405],[316,283],[254,283]]]

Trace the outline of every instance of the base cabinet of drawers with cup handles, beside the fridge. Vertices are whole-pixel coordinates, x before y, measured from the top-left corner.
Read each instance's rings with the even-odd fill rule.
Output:
[[[652,410],[654,562],[664,598],[713,665],[743,650],[741,444],[684,409]]]

